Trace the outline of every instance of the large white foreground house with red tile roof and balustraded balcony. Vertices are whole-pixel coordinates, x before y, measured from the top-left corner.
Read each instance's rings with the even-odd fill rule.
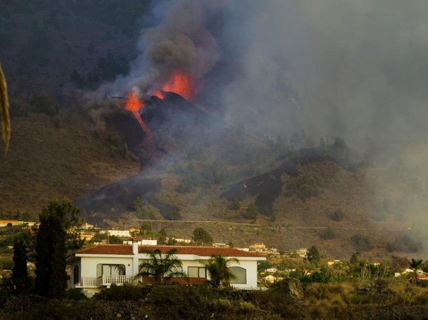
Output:
[[[240,264],[233,263],[231,270],[236,278],[231,284],[239,289],[257,288],[257,262],[266,257],[256,252],[245,252],[236,248],[193,247],[193,246],[138,246],[132,245],[98,245],[82,249],[69,258],[72,271],[72,288],[81,288],[87,296],[92,296],[102,288],[115,283],[142,281],[135,279],[139,264],[148,259],[148,251],[161,250],[163,254],[177,249],[176,257],[183,263],[190,283],[202,283],[209,279],[201,262],[212,255],[222,255],[227,259],[237,258]],[[180,278],[178,278],[180,279]],[[183,280],[183,279],[182,279]],[[153,281],[152,281],[153,282]],[[181,281],[182,282],[182,281]]]

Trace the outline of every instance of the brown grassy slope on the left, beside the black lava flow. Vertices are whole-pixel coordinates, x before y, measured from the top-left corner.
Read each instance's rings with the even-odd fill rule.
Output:
[[[12,119],[13,134],[0,160],[0,212],[38,215],[52,198],[79,198],[112,180],[135,174],[122,142],[94,137],[82,115],[63,111],[55,120],[42,113]]]

